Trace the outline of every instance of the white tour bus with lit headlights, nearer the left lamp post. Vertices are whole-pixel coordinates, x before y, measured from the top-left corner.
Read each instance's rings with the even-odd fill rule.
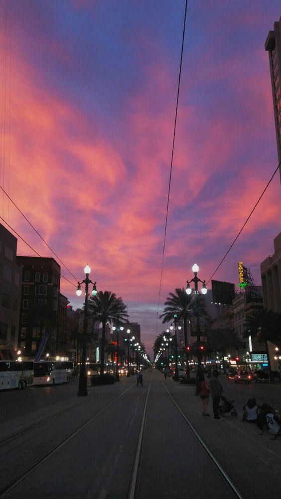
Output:
[[[68,383],[73,376],[74,363],[61,360],[34,362],[34,385],[58,385]]]

